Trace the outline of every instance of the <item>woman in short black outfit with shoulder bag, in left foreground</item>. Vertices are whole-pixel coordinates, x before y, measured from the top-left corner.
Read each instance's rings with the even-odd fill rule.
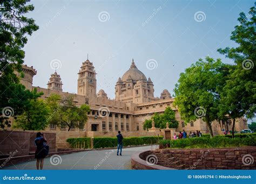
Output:
[[[35,145],[36,145],[36,153],[35,153],[35,158],[36,160],[36,168],[37,170],[43,169],[44,166],[44,158],[45,158],[45,152],[44,152],[44,143],[46,143],[47,140],[45,138],[45,135],[41,132],[37,132],[36,134],[36,139],[35,139]]]

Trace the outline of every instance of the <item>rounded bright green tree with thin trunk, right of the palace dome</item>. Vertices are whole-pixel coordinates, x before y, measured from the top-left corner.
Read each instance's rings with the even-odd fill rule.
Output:
[[[188,123],[203,118],[211,137],[213,137],[211,122],[219,119],[218,91],[225,83],[224,67],[220,59],[215,61],[208,56],[205,60],[199,59],[191,67],[186,68],[185,73],[180,74],[174,89],[174,105],[178,107],[181,119]]]

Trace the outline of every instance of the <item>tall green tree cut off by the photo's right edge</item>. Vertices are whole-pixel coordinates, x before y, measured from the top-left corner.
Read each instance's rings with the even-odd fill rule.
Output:
[[[235,118],[255,115],[256,103],[256,17],[255,5],[250,9],[247,18],[244,12],[238,18],[239,25],[232,31],[231,40],[238,47],[219,48],[218,52],[235,62],[229,79],[221,92],[219,114],[228,114],[232,120],[232,137],[234,137]]]

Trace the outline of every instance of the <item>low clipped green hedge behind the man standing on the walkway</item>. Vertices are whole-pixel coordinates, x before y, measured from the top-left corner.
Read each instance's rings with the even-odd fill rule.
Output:
[[[163,139],[163,136],[159,136]],[[66,140],[72,148],[91,148],[91,138],[69,138]],[[129,137],[123,139],[124,146],[139,146],[158,144],[158,137]],[[96,137],[93,139],[93,148],[116,147],[117,138]]]

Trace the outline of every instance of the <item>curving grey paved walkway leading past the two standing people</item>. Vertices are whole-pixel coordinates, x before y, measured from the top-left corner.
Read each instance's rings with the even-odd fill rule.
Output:
[[[123,148],[122,156],[117,156],[117,150],[93,150],[52,156],[44,159],[44,169],[131,169],[133,153],[154,149],[156,145]],[[36,169],[36,160],[3,169]]]

